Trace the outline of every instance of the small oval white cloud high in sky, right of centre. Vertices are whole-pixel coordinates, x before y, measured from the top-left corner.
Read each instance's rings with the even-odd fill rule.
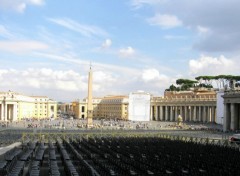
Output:
[[[150,25],[160,26],[161,28],[168,29],[182,25],[182,22],[174,15],[156,14],[154,17],[147,19]]]

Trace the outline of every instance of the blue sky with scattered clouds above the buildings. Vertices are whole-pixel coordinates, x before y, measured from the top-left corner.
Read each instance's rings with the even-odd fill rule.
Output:
[[[0,92],[71,102],[240,74],[238,0],[0,0]]]

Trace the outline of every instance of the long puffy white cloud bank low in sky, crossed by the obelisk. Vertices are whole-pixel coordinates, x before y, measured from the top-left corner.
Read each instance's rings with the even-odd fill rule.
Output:
[[[88,73],[80,74],[73,70],[53,70],[51,68],[28,68],[25,70],[0,69],[0,90],[30,90],[31,92],[61,92],[64,99],[71,95],[70,101],[79,96],[85,97],[88,89]],[[94,96],[105,96],[120,86],[111,71],[93,71]],[[38,91],[36,91],[38,90]],[[81,92],[82,95],[74,93]]]

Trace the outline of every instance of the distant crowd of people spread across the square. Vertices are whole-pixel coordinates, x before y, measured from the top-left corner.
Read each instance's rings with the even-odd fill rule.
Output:
[[[92,125],[87,124],[86,119],[34,119],[26,118],[20,121],[3,121],[0,122],[2,128],[41,128],[41,129],[188,129],[188,130],[213,130],[222,131],[222,125],[214,123],[182,123],[178,125],[177,122],[163,122],[163,121],[122,121],[99,119],[93,120]]]

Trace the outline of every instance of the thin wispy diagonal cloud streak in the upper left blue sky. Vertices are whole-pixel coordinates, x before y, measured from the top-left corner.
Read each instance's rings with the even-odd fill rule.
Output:
[[[58,24],[60,26],[63,26],[67,29],[70,29],[75,32],[79,32],[82,35],[86,37],[92,37],[92,36],[107,36],[107,32],[101,29],[100,27],[93,26],[93,25],[85,25],[80,24],[72,19],[63,18],[63,19],[48,19],[49,21]]]

